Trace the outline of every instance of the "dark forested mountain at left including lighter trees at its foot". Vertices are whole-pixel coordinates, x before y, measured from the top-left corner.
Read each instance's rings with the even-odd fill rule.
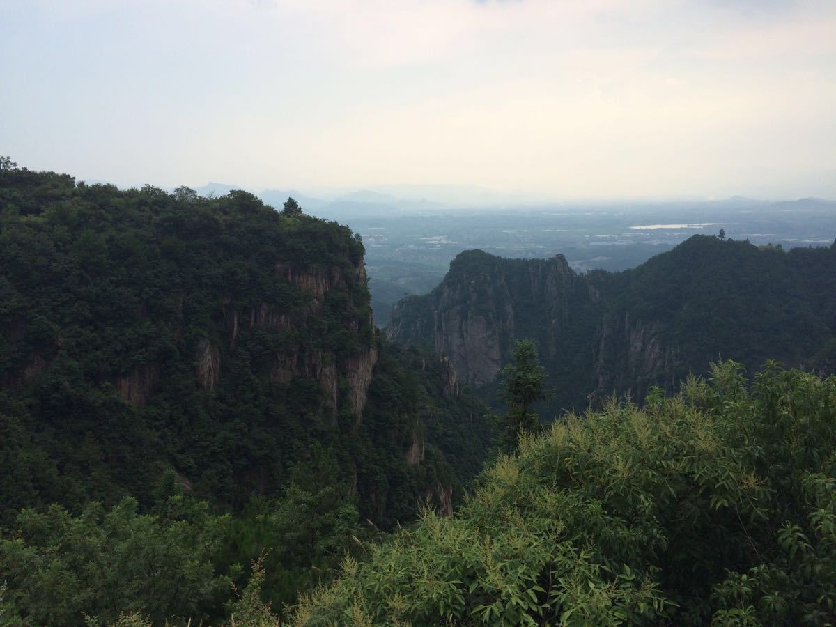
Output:
[[[361,521],[450,512],[481,469],[482,405],[446,361],[376,333],[359,237],[284,213],[0,169],[0,579],[26,611],[51,589],[36,623],[138,599],[212,618],[233,564],[269,547],[268,594],[290,601]],[[101,545],[61,553],[74,542]],[[143,543],[148,563],[126,550]],[[125,568],[119,594],[85,552],[99,575]],[[195,585],[185,605],[149,588],[176,580]]]

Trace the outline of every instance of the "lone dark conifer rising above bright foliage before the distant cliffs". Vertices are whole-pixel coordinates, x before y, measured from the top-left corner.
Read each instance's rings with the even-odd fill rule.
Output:
[[[520,433],[539,430],[540,416],[531,406],[551,395],[543,386],[546,370],[540,365],[537,346],[532,340],[517,341],[513,363],[507,364],[499,375],[504,384],[499,398],[507,406],[507,413],[501,419],[501,446],[506,451],[512,451],[517,446]]]

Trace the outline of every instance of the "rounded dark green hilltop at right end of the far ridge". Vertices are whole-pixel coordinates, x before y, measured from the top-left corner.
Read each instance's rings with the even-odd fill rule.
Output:
[[[632,381],[635,392],[654,384],[670,390],[689,372],[706,372],[719,356],[750,372],[767,359],[808,367],[819,345],[836,336],[829,314],[836,308],[836,256],[827,248],[783,252],[695,236],[611,275],[609,290],[613,321],[641,320],[676,351],[666,371]],[[614,372],[630,371],[629,354],[605,357]]]

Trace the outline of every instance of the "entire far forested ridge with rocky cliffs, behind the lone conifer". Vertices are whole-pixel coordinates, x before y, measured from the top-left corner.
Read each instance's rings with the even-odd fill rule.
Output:
[[[828,370],[836,244],[786,252],[695,236],[633,270],[582,275],[561,255],[466,251],[431,293],[395,306],[389,333],[447,355],[463,380],[488,392],[514,340],[534,339],[553,410],[583,408],[589,395],[672,390],[720,357],[750,371],[765,359]]]

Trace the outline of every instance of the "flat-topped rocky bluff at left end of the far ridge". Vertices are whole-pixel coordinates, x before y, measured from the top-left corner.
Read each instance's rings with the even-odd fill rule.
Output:
[[[438,288],[395,306],[389,333],[445,355],[462,381],[487,385],[488,397],[514,341],[533,338],[552,372],[580,378],[576,383],[585,389],[594,379],[589,343],[601,298],[601,288],[575,274],[563,256],[523,261],[467,251]]]

